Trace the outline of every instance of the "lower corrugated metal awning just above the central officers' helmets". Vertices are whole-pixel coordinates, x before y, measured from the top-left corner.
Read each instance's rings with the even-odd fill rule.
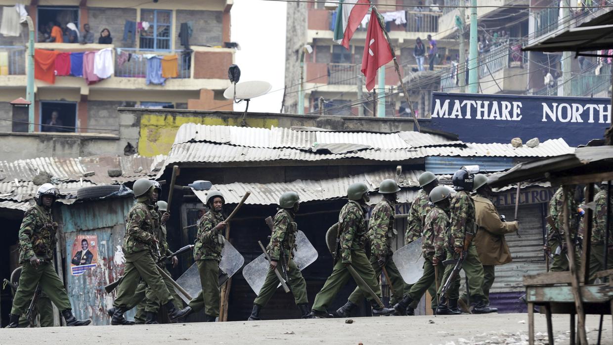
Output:
[[[417,186],[417,176],[422,173],[420,171],[403,172],[400,178],[400,186],[414,187]],[[215,184],[211,190],[220,191],[227,203],[238,203],[243,198],[247,191],[251,195],[245,203],[251,205],[273,205],[278,203],[281,194],[287,191],[295,191],[300,195],[302,202],[310,202],[314,200],[330,200],[345,197],[349,184],[356,182],[365,182],[368,184],[370,191],[376,191],[379,188],[381,181],[386,178],[395,178],[395,170],[379,170],[376,172],[368,172],[359,175],[352,175],[341,178],[333,178],[329,180],[296,180],[286,183],[229,183]],[[207,200],[208,191],[195,191],[194,194],[204,203]],[[415,192],[403,190],[398,193],[398,202],[411,202]],[[371,199],[371,203],[376,203],[378,199],[375,195]]]

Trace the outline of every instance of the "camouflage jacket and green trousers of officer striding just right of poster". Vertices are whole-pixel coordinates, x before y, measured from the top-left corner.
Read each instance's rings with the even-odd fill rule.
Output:
[[[159,228],[159,214],[155,205],[136,202],[126,219],[126,235],[124,235],[123,252],[126,265],[123,280],[117,287],[117,297],[113,302],[115,308],[134,308],[133,298],[140,279],[151,288],[155,298],[165,305],[172,301],[172,295],[158,271],[156,260],[160,253],[156,240],[156,229]]]

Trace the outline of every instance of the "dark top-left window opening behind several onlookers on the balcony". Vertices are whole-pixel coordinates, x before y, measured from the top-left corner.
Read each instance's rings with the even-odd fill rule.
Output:
[[[37,41],[49,42],[51,29],[58,26],[63,32],[64,43],[78,43],[76,32],[67,29],[68,23],[74,23],[77,29],[79,24],[78,7],[44,7],[39,6],[37,11]],[[53,25],[50,25],[53,23]]]

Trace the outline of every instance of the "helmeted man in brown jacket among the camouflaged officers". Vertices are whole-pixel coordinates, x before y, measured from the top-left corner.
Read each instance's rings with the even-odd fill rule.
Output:
[[[511,252],[504,240],[504,234],[516,232],[519,224],[514,222],[503,222],[500,214],[490,200],[492,188],[487,184],[487,176],[477,174],[474,176],[474,213],[479,230],[474,237],[474,244],[477,246],[479,260],[483,265],[483,294],[485,303],[490,305],[490,287],[494,283],[494,267],[511,262]]]

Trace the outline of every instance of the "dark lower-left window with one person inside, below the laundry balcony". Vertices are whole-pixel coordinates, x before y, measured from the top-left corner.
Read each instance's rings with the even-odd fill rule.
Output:
[[[41,132],[76,132],[76,102],[40,102]]]

